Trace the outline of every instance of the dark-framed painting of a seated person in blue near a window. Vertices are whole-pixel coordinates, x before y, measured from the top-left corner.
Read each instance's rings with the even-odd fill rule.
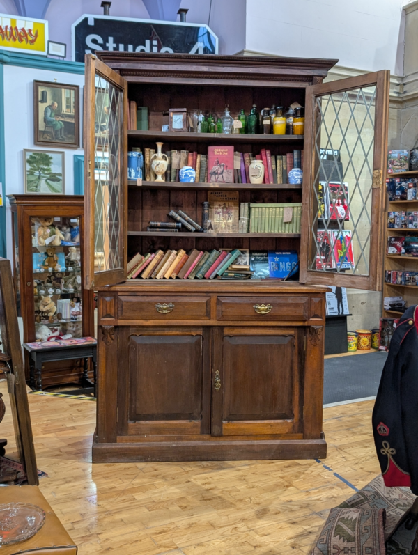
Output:
[[[79,86],[33,81],[33,143],[79,147]]]

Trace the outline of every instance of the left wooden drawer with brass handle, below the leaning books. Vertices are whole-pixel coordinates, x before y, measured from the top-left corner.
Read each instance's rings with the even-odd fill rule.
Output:
[[[121,295],[120,320],[208,320],[210,297],[187,295]]]

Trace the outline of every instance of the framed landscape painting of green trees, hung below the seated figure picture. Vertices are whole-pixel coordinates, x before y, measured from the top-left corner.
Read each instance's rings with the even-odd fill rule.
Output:
[[[23,150],[24,192],[64,194],[64,156],[57,150]]]

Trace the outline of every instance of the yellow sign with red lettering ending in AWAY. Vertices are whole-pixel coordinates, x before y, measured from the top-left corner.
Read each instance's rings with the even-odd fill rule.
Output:
[[[31,17],[11,17],[0,14],[0,48],[46,54],[48,22]]]

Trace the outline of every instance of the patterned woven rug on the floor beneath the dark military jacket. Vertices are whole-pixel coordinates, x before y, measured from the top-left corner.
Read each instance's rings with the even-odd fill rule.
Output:
[[[374,478],[331,509],[311,555],[410,554],[415,530],[406,531],[403,521],[414,501],[409,487],[386,487],[382,476]]]

